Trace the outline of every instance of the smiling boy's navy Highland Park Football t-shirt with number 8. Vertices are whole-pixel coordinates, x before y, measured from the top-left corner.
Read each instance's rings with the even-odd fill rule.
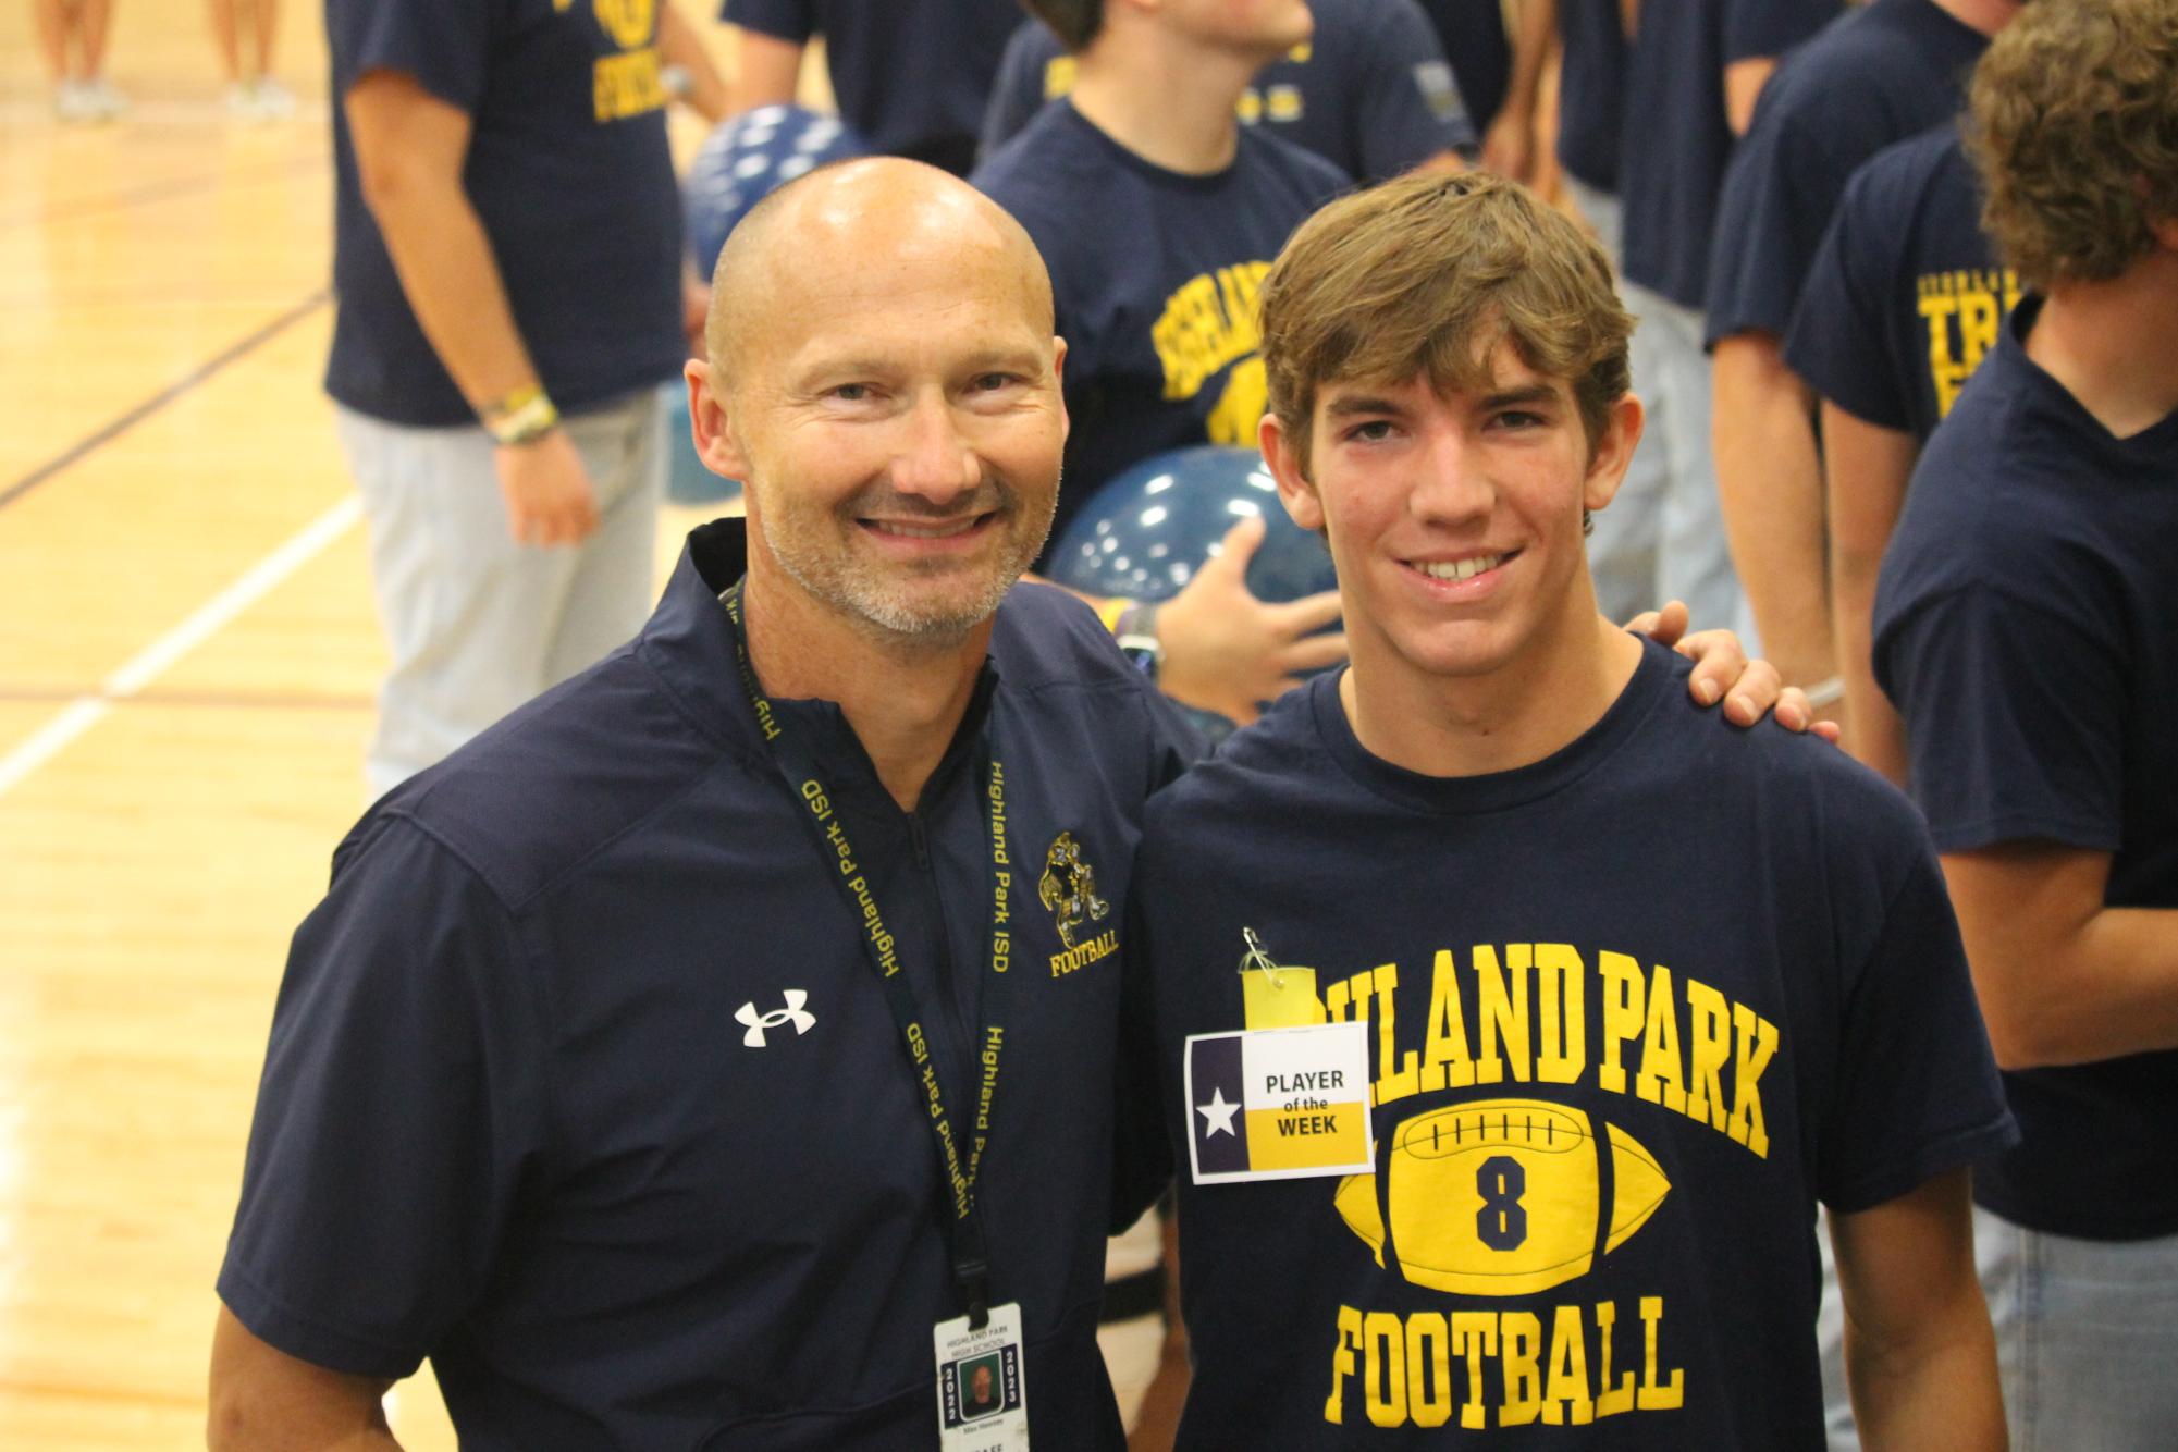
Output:
[[[1651,644],[1566,749],[1444,779],[1370,755],[1331,673],[1150,803],[1178,1445],[1823,1445],[1816,1199],[2012,1128],[1912,805],[1686,675]],[[1374,1173],[1191,1182],[1228,1141],[1183,1041],[1246,1025],[1241,927],[1370,1023]]]

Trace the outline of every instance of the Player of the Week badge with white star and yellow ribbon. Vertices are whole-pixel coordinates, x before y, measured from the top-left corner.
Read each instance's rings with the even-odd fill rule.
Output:
[[[1265,997],[1313,1004],[1316,971],[1281,969],[1252,930],[1241,934],[1250,1028],[1189,1034],[1180,1069],[1196,1184],[1368,1173],[1368,1025],[1257,1012]]]

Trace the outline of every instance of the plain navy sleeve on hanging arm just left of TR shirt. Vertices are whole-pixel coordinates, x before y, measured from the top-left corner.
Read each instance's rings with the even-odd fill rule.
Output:
[[[1819,120],[1758,104],[1753,126],[1732,152],[1710,242],[1710,344],[1747,331],[1784,337],[1792,322],[1808,263],[1845,187],[1836,159],[1814,135]]]

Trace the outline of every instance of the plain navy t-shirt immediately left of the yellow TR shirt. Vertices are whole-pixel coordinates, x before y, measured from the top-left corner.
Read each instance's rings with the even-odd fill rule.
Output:
[[[1708,342],[1784,337],[1847,179],[1884,146],[1951,120],[1986,48],[1930,0],[1873,0],[1786,57],[1725,168]]]

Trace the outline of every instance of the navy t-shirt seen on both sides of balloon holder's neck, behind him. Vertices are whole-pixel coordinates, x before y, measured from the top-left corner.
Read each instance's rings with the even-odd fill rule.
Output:
[[[1265,65],[1239,118],[1324,157],[1348,176],[1387,179],[1475,144],[1444,52],[1414,0],[1313,0],[1316,37]],[[982,155],[1074,89],[1074,57],[1039,20],[1006,44],[982,122]]]

